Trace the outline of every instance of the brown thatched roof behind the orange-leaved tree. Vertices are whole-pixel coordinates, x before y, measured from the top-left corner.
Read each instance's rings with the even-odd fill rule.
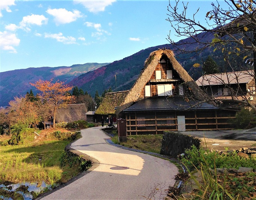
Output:
[[[86,120],[85,113],[87,113],[87,108],[84,103],[60,106],[57,107],[56,122],[72,122],[79,119]]]

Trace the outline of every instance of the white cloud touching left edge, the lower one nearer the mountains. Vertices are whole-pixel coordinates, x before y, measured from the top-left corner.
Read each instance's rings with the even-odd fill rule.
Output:
[[[17,53],[13,46],[18,46],[20,39],[16,37],[14,33],[9,33],[7,31],[0,31],[0,48],[10,53]]]

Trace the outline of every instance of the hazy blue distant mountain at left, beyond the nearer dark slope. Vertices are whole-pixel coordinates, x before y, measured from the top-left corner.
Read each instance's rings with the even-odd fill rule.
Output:
[[[0,106],[8,105],[14,96],[25,95],[30,89],[35,91],[29,83],[54,78],[70,82],[74,77],[95,70],[108,63],[75,64],[70,67],[38,67],[0,72]],[[36,94],[35,94],[36,95]]]

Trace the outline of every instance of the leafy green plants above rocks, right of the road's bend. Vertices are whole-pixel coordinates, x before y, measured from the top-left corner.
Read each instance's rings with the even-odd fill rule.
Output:
[[[217,154],[217,152],[205,151],[202,148],[198,150],[195,146],[192,146],[191,149],[185,151],[185,155],[186,157],[182,158],[182,162],[190,169],[205,162],[211,169],[214,169],[214,166],[216,168],[252,167],[256,169],[256,159],[241,158],[235,152],[230,155]]]

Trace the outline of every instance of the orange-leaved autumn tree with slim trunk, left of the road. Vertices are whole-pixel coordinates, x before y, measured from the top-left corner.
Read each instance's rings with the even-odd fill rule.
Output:
[[[72,90],[73,87],[66,85],[65,82],[59,80],[55,83],[52,81],[53,79],[50,81],[39,80],[34,84],[30,83],[30,85],[33,85],[37,90],[40,90],[42,92],[40,97],[53,105],[53,127],[55,127],[57,106],[67,104],[72,99],[72,96],[68,92]]]

